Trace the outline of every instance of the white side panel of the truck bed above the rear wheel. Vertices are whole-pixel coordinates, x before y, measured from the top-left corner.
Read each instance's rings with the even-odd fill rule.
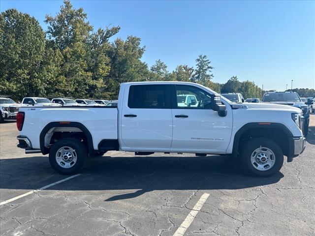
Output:
[[[51,122],[79,122],[93,134],[93,147],[106,139],[118,139],[117,107],[21,107],[25,120],[20,135],[27,135],[32,148],[40,148],[39,134]]]

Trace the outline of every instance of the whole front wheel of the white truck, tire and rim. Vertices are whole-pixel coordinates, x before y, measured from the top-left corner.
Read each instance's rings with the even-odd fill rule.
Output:
[[[253,138],[247,141],[240,158],[245,171],[256,177],[272,176],[284,163],[282,149],[266,138]]]

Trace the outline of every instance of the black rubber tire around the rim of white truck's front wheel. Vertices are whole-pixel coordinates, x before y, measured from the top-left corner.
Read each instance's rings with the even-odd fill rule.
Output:
[[[274,153],[275,156],[273,158],[275,158],[275,162],[269,170],[262,171],[254,168],[251,158],[253,152],[257,148],[269,148]],[[242,147],[240,159],[243,169],[248,174],[255,177],[268,177],[273,176],[280,171],[284,163],[284,154],[279,145],[272,140],[266,138],[253,138],[247,141]]]

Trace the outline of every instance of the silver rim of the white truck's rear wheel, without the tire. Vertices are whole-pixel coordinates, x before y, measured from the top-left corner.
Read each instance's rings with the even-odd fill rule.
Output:
[[[56,162],[62,168],[68,169],[77,162],[77,153],[75,149],[70,147],[59,148],[56,152]]]

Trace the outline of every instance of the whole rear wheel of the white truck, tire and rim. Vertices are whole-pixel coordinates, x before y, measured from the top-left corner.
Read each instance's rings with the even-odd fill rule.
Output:
[[[50,165],[62,175],[78,173],[82,169],[86,157],[86,146],[74,138],[59,140],[49,151]]]

